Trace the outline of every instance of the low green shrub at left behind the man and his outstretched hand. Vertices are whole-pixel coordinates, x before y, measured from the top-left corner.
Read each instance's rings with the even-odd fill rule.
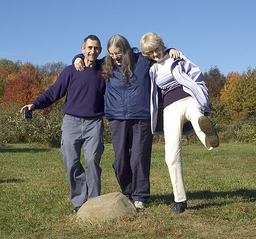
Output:
[[[24,120],[19,106],[0,109],[0,144],[16,142],[40,142],[51,147],[60,147],[61,125],[64,114],[62,101],[44,110],[33,111],[31,121]],[[104,141],[111,143],[108,121],[104,117]]]

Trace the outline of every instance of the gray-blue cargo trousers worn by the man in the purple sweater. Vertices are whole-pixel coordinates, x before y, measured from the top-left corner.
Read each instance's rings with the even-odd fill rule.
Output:
[[[65,115],[61,130],[61,154],[68,173],[71,202],[74,206],[82,206],[87,200],[101,193],[103,119],[82,119]],[[82,146],[87,176],[80,162]]]

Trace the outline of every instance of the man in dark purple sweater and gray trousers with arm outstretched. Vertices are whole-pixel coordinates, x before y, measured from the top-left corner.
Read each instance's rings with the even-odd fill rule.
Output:
[[[101,192],[100,159],[104,151],[103,118],[105,80],[96,59],[102,47],[97,36],[89,35],[81,46],[84,54],[84,71],[74,65],[66,67],[56,82],[38,96],[28,109],[45,109],[66,95],[63,106],[61,154],[70,185],[73,212],[87,200]],[[87,175],[81,165],[83,146]]]

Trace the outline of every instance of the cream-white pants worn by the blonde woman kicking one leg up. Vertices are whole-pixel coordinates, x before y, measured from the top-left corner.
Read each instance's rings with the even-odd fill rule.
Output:
[[[163,110],[165,162],[169,169],[175,202],[182,202],[187,199],[182,168],[183,124],[190,121],[199,140],[208,150],[212,149],[205,133],[200,130],[198,125],[198,119],[203,115],[197,102],[192,97],[177,100]]]

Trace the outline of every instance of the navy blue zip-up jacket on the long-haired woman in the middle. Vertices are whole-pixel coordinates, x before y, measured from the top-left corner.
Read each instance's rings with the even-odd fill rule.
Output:
[[[123,82],[121,66],[114,66],[113,76],[106,82],[105,116],[116,120],[150,119],[150,60],[134,53],[133,76]]]

